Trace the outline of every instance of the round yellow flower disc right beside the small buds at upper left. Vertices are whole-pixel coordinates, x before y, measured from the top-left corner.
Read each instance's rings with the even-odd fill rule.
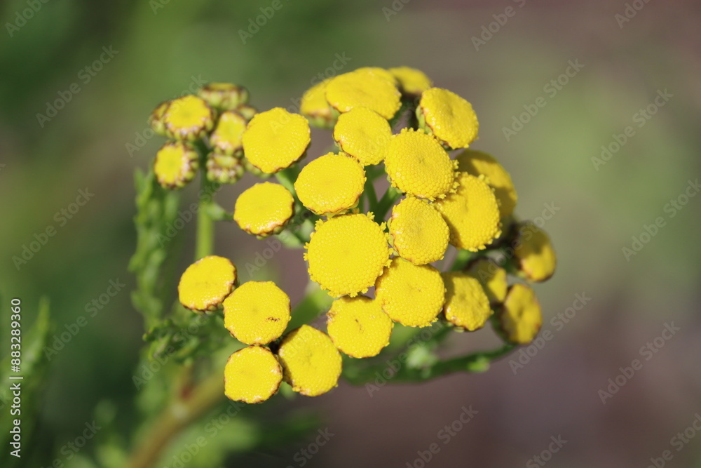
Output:
[[[243,151],[253,166],[272,174],[304,156],[310,135],[307,119],[275,107],[256,114],[248,123],[243,133]]]

